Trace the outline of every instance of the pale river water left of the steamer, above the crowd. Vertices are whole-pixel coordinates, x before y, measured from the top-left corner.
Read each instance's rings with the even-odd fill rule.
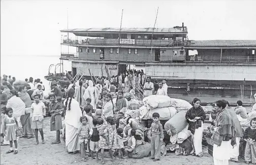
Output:
[[[44,78],[48,74],[48,69],[51,64],[60,63],[60,56],[18,56],[18,55],[1,55],[1,77],[3,75],[11,75],[16,79],[25,80],[25,78],[33,77],[40,78],[46,90],[49,90],[49,81]],[[63,60],[63,70],[71,71],[72,64],[69,61]],[[50,72],[54,73],[55,66],[51,68]],[[60,68],[56,69],[59,73]]]

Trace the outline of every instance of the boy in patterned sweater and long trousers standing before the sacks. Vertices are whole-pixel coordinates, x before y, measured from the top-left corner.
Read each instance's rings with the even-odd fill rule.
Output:
[[[163,126],[158,120],[160,115],[159,113],[153,113],[153,122],[151,125],[151,159],[153,161],[160,160],[161,156],[161,142],[164,138]]]

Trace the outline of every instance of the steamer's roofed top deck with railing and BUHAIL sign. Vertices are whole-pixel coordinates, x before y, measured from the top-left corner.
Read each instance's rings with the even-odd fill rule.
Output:
[[[186,27],[63,29],[75,38],[61,38],[61,45],[75,47],[180,47],[186,43]]]

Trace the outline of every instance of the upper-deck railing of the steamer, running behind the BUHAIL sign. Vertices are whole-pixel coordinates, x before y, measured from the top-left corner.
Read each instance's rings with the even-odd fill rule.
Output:
[[[117,46],[119,45],[119,39],[61,39],[61,44],[69,45],[95,45],[95,46]],[[181,47],[185,46],[186,42],[182,40],[173,39],[135,39],[135,44],[120,44],[133,45],[133,46],[154,46],[154,47]]]

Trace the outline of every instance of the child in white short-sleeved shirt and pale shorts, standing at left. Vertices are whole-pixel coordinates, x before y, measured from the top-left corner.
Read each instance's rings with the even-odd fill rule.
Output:
[[[44,116],[46,115],[45,104],[40,101],[40,95],[34,96],[35,103],[32,103],[32,124],[31,129],[35,129],[35,136],[36,136],[36,145],[38,145],[38,130],[42,137],[42,144],[45,143],[44,141]]]

